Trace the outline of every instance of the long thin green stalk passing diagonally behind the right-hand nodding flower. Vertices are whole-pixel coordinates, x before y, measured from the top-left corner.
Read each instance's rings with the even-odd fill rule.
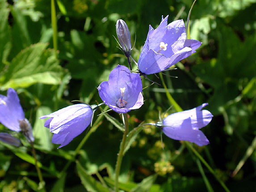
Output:
[[[179,104],[176,103],[176,101],[172,98],[171,94],[168,92],[168,89],[164,83],[164,78],[163,78],[163,75],[159,73],[159,76],[161,78],[161,81],[162,81],[162,84],[164,86],[164,89],[165,89],[165,92],[166,92],[166,95],[168,97],[168,100],[170,101],[170,103],[173,105],[173,107],[176,109],[177,112],[180,112],[180,111],[183,111],[181,109],[181,107],[179,106]],[[205,159],[203,159],[203,157],[197,152],[197,150],[195,150],[195,148],[193,148],[193,146],[187,142],[187,141],[184,141],[184,143],[186,144],[186,146],[188,148],[190,148],[193,153],[198,157],[198,159],[201,160],[201,162],[207,167],[207,169],[214,175],[214,177],[218,180],[218,182],[221,184],[221,186],[225,189],[226,192],[230,192],[229,189],[227,188],[227,186],[222,182],[221,179],[218,178],[218,176],[216,175],[216,173],[214,172],[214,170],[210,167],[210,165],[206,162]]]

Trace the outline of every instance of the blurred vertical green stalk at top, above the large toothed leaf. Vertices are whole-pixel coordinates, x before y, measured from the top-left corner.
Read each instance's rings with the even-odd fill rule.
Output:
[[[51,25],[53,29],[53,48],[55,50],[55,58],[58,58],[57,50],[58,50],[58,29],[57,29],[57,18],[56,18],[56,9],[55,2],[51,0]]]

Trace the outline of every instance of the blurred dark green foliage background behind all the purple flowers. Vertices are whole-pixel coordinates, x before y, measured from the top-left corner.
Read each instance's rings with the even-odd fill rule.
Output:
[[[50,0],[0,0],[0,94],[15,88],[26,118],[33,125],[39,167],[50,192],[108,191],[122,139],[116,124],[105,117],[84,147],[76,147],[87,131],[58,149],[40,116],[81,100],[101,102],[97,86],[117,65],[127,60],[113,38],[118,19],[126,21],[135,38],[132,56],[138,60],[148,25],[156,28],[161,16],[169,22],[184,19],[192,0],[56,0],[57,55],[53,45]],[[182,109],[204,102],[214,118],[202,129],[210,140],[194,147],[234,192],[256,191],[256,0],[197,0],[190,21],[190,38],[202,46],[164,76],[168,91]],[[132,40],[132,43],[134,40]],[[134,70],[136,69],[135,66]],[[149,78],[162,84],[155,75]],[[143,79],[143,87],[151,83]],[[143,89],[144,105],[129,113],[130,127],[157,122],[171,105],[163,86]],[[76,102],[75,102],[76,103]],[[176,112],[171,109],[168,113]],[[99,114],[100,112],[97,112]],[[96,115],[97,115],[96,114]],[[118,114],[109,112],[119,119]],[[96,119],[97,117],[95,117]],[[108,118],[108,120],[110,120]],[[116,121],[116,120],[114,120]],[[120,120],[120,122],[122,122]],[[0,125],[0,131],[8,129]],[[124,156],[120,188],[126,192],[223,191],[209,170],[160,129],[143,129]],[[21,138],[23,139],[23,138]],[[0,190],[38,190],[31,148],[0,143]],[[70,161],[66,171],[63,167]],[[232,172],[244,163],[239,172]],[[201,169],[200,169],[200,166]],[[101,177],[99,177],[101,175]],[[86,189],[85,189],[86,188]]]

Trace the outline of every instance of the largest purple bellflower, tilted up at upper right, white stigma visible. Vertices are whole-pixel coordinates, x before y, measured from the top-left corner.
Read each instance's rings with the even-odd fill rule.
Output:
[[[168,16],[153,29],[149,25],[147,40],[138,58],[138,70],[144,74],[154,74],[171,67],[188,57],[201,46],[201,42],[186,39],[183,20],[168,24]]]

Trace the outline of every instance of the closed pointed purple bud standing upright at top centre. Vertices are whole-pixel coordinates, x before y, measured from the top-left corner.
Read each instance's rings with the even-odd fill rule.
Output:
[[[122,46],[122,50],[125,52],[126,57],[129,57],[131,53],[130,31],[126,25],[126,22],[122,19],[118,19],[116,24],[116,31],[119,43]]]

